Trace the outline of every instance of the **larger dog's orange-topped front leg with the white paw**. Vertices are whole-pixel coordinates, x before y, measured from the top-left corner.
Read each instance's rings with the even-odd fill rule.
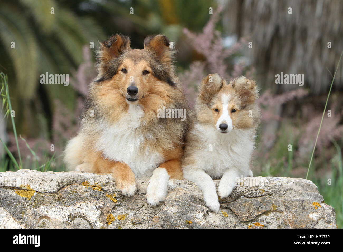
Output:
[[[164,201],[169,177],[182,179],[180,160],[169,160],[154,170],[146,188],[146,201],[149,205],[155,206]]]

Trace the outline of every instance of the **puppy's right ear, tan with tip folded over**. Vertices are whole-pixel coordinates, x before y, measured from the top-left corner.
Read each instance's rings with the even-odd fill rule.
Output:
[[[254,103],[259,97],[256,81],[246,77],[239,77],[230,83],[237,91],[244,104]]]

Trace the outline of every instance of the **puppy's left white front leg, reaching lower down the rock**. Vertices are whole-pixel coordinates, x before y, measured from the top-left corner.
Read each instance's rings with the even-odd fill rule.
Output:
[[[204,192],[204,200],[206,206],[208,206],[213,212],[218,213],[219,201],[213,179],[204,170],[184,167],[184,178],[194,183],[197,183],[200,189]]]

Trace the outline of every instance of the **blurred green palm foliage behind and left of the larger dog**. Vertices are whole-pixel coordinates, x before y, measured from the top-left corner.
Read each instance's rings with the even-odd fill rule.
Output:
[[[77,95],[71,87],[40,84],[41,74],[70,74],[83,60],[83,45],[94,42],[94,56],[98,41],[114,33],[129,35],[136,48],[150,34],[163,33],[176,41],[183,27],[201,30],[209,7],[214,7],[205,0],[0,2],[0,69],[9,76],[13,108],[20,111],[18,130],[32,137],[41,133],[37,128],[42,129],[42,116],[51,130],[56,98],[73,110]]]

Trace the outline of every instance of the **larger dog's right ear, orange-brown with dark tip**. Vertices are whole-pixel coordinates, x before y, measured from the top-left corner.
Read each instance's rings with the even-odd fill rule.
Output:
[[[173,61],[173,44],[162,35],[148,36],[144,39],[144,49],[153,51],[159,61],[166,63]]]

